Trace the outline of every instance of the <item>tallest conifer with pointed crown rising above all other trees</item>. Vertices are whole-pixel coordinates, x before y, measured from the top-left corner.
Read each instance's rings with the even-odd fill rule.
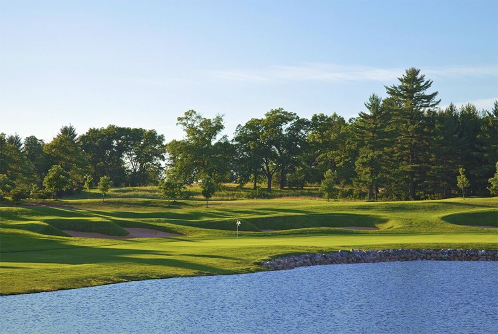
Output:
[[[432,86],[419,69],[409,68],[398,78],[399,84],[385,86],[389,95],[386,106],[393,112],[396,140],[392,155],[398,162],[396,174],[408,185],[407,198],[417,199],[417,186],[422,182],[429,157],[430,136],[427,134],[425,112],[435,108],[438,92],[426,93]]]

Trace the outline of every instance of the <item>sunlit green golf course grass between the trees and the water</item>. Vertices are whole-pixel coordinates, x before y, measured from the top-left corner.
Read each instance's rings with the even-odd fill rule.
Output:
[[[401,247],[498,249],[498,230],[462,226],[496,226],[497,198],[383,203],[219,200],[206,209],[200,200],[167,207],[166,201],[145,196],[147,189],[130,192],[142,198],[130,198],[129,192],[119,189],[105,203],[80,196],[58,202],[69,207],[2,207],[0,293],[251,272],[261,269],[262,259],[286,253]],[[243,222],[239,240],[234,232],[237,219]],[[60,231],[122,235],[122,227],[189,237],[106,240],[71,238]]]

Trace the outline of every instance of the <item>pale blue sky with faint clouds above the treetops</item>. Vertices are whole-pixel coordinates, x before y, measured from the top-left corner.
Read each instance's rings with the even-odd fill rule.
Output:
[[[498,98],[498,1],[1,1],[0,132],[108,124],[181,138],[176,117],[271,108],[353,117],[404,69],[441,104]]]

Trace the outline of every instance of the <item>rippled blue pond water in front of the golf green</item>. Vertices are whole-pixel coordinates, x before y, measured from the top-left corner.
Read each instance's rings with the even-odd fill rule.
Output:
[[[323,265],[0,297],[0,333],[498,333],[498,262]]]

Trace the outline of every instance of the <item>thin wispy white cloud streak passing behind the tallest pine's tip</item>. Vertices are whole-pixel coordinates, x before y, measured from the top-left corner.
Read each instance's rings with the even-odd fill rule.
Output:
[[[404,68],[372,68],[364,66],[340,66],[324,63],[303,63],[297,66],[269,66],[263,69],[233,69],[211,71],[212,78],[232,82],[292,82],[292,81],[392,81],[404,73]],[[422,68],[430,78],[498,76],[498,67],[449,66]]]

